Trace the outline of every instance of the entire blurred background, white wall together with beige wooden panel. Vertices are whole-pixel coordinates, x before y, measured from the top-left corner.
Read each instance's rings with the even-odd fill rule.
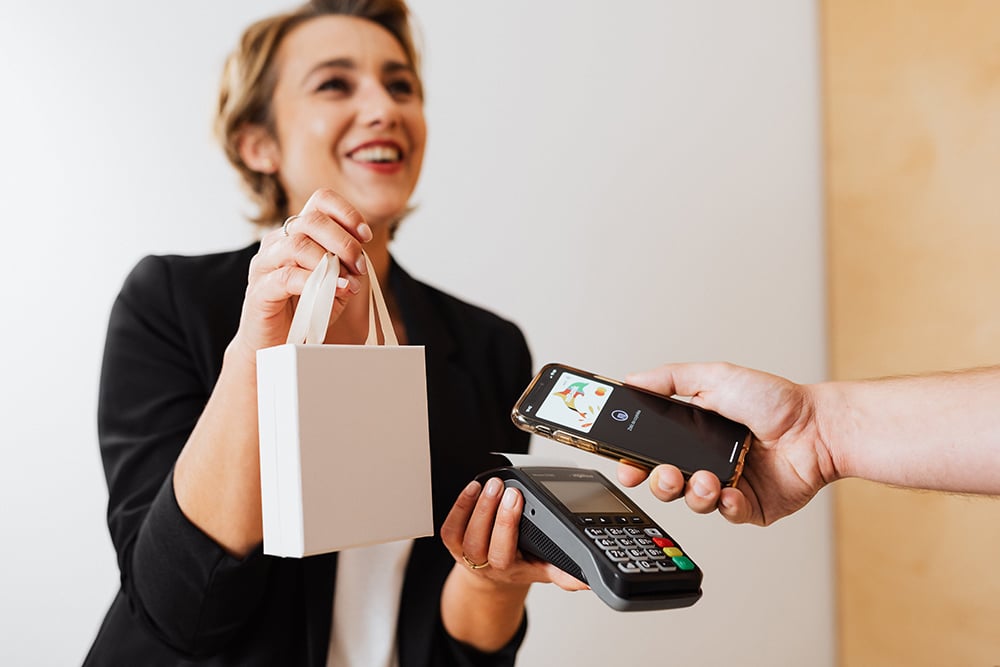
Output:
[[[117,588],[108,312],[143,255],[252,240],[212,108],[243,28],[289,6],[0,5],[2,664],[79,664]],[[996,362],[1000,5],[411,6],[430,140],[394,253],[520,325],[536,367]],[[1000,664],[995,501],[843,482],[762,530],[629,493],[704,598],[622,614],[535,587],[520,664]]]

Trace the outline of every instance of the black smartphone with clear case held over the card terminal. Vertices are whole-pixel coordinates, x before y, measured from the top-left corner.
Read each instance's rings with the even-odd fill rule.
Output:
[[[669,463],[685,477],[708,470],[735,486],[750,429],[668,396],[546,364],[511,413],[525,431],[609,458],[652,468]]]

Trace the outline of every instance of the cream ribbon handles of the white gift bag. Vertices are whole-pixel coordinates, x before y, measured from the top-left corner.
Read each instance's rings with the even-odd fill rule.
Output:
[[[368,338],[365,345],[378,345],[378,331],[382,330],[385,345],[399,345],[396,332],[392,328],[389,309],[385,305],[382,289],[379,287],[378,276],[372,267],[368,253],[364,253],[365,264],[368,266]],[[326,339],[326,330],[330,325],[330,313],[333,311],[333,301],[337,293],[337,278],[340,277],[340,259],[333,253],[326,253],[309,274],[299,303],[292,315],[292,324],[288,328],[287,343],[306,343],[319,345]],[[378,323],[375,322],[375,311],[378,310]]]

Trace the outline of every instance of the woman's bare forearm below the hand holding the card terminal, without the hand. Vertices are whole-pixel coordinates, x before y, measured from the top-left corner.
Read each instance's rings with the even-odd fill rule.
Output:
[[[454,639],[497,651],[517,632],[530,584],[497,585],[456,565],[441,591],[441,619]]]

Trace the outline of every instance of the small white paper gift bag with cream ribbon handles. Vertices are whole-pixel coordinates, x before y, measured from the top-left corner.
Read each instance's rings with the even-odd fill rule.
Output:
[[[323,345],[339,273],[328,253],[306,282],[288,342],[257,352],[266,554],[434,532],[424,348],[397,343],[370,263],[368,340]]]

